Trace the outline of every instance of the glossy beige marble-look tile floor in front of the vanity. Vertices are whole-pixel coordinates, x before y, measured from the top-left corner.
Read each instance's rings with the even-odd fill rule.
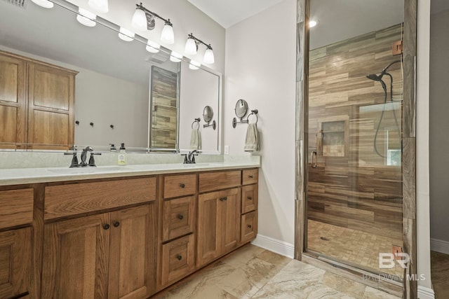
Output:
[[[398,299],[250,244],[152,298]]]

